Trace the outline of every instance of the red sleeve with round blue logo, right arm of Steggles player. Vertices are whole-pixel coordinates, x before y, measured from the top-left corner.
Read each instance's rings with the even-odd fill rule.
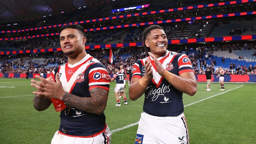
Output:
[[[184,72],[193,72],[191,61],[185,54],[178,54],[179,75]]]

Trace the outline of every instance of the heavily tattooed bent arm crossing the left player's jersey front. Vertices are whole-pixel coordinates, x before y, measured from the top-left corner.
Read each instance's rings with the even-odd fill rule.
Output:
[[[91,97],[78,97],[65,92],[62,99],[64,102],[82,111],[100,115],[106,108],[108,92],[102,88],[91,89]]]

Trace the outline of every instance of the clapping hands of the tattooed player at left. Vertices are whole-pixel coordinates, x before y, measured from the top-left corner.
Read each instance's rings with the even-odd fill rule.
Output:
[[[33,91],[33,94],[43,95],[53,99],[61,99],[63,97],[65,91],[63,90],[58,73],[56,73],[56,83],[48,81],[40,76],[36,76],[36,78],[41,80],[41,82],[32,79],[31,82],[33,83],[31,83],[31,86],[37,88],[41,92]]]

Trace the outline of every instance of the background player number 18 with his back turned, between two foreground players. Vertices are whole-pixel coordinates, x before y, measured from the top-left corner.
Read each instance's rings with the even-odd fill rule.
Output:
[[[121,106],[118,93],[123,96],[124,104],[126,105],[128,104],[126,100],[126,96],[124,94],[124,89],[125,89],[124,74],[120,71],[120,69],[121,69],[120,67],[116,67],[115,74],[111,78],[111,81],[114,81],[116,79],[116,87],[114,90],[116,95],[116,101],[117,101],[116,106]]]

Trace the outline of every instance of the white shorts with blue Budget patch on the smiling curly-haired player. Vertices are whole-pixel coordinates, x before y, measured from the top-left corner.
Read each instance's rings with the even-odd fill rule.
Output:
[[[184,114],[157,117],[141,113],[135,144],[189,144]]]

